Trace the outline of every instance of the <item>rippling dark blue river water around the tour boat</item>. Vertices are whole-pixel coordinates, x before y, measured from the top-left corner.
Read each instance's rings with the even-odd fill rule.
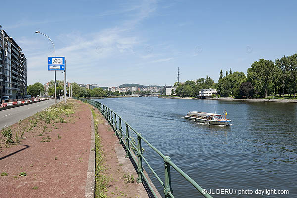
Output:
[[[142,135],[202,188],[233,194],[214,198],[297,197],[297,104],[157,97],[98,99]],[[232,126],[183,118],[188,111],[223,113]],[[144,156],[164,181],[162,158],[143,143]],[[155,186],[163,188],[146,168]],[[203,197],[171,168],[176,198]],[[242,194],[239,190],[289,190],[289,194]],[[236,192],[235,192],[236,190]]]

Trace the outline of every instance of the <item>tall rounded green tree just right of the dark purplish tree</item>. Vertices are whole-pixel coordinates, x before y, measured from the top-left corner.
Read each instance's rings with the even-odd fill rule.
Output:
[[[247,69],[247,79],[262,95],[265,94],[267,97],[268,93],[272,92],[272,79],[275,71],[276,66],[271,60],[260,59]]]

